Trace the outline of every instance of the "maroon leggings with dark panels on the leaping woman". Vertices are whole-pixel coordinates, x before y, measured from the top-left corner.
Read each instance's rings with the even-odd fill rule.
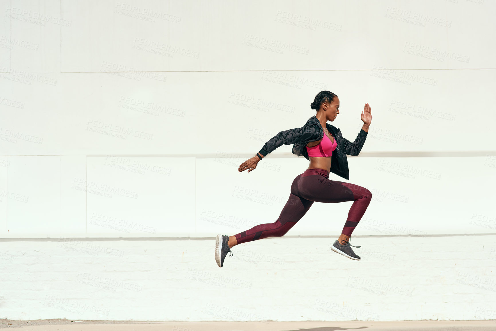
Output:
[[[274,223],[255,225],[236,234],[238,244],[267,237],[282,237],[298,222],[316,202],[353,201],[348,219],[344,224],[344,235],[351,236],[371,202],[372,194],[358,185],[332,181],[324,169],[307,169],[296,176],[291,184],[291,194],[279,218]]]

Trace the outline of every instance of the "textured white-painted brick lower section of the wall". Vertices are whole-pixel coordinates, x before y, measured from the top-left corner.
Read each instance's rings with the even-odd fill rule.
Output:
[[[0,241],[1,316],[162,321],[496,319],[496,235]]]

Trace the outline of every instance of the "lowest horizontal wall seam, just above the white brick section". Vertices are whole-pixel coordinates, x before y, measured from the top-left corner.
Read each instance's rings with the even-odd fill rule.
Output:
[[[403,235],[354,235],[353,238],[385,238],[385,237],[459,237],[459,236],[494,236],[496,233],[471,233],[471,234],[403,234]],[[336,238],[336,236],[283,236],[277,238]],[[127,237],[127,238],[0,238],[0,242],[6,241],[61,241],[61,239],[73,239],[82,241],[166,241],[166,240],[214,240],[215,237]]]

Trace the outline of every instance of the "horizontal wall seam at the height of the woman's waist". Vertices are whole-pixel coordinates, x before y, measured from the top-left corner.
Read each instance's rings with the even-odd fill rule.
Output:
[[[233,154],[239,157],[251,157],[252,153],[225,152],[225,154]],[[347,157],[477,157],[496,155],[494,150],[486,151],[433,151],[433,152],[361,152],[360,155],[346,155]],[[231,157],[219,157],[214,153],[205,154],[46,154],[46,155],[0,155],[6,156],[86,156],[86,157],[196,157],[196,158],[219,158],[230,159]],[[270,158],[295,158],[298,157],[293,153],[277,153],[267,155]],[[267,157],[266,156],[266,157]]]

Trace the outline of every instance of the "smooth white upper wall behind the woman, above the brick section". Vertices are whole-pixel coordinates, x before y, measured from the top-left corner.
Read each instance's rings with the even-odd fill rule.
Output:
[[[303,126],[322,89],[339,95],[332,124],[350,140],[372,105],[362,154],[349,158],[350,182],[373,193],[371,224],[494,232],[495,192],[484,183],[496,167],[495,9],[468,0],[5,3],[0,236],[201,237],[237,232],[218,215],[273,222],[308,161],[282,146],[255,172],[236,168],[277,132]],[[432,154],[397,157],[405,152]],[[426,157],[442,152],[452,154]],[[246,188],[278,201],[232,196]],[[291,233],[339,233],[349,204],[316,204]]]

